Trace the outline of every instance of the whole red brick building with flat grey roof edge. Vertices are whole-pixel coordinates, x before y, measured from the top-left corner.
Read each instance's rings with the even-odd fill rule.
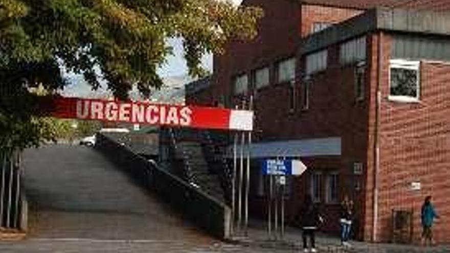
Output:
[[[309,193],[325,212],[325,231],[336,232],[349,195],[358,238],[391,240],[393,210],[406,210],[417,241],[420,206],[433,195],[442,217],[435,237],[450,242],[450,3],[243,5],[264,9],[259,35],[215,56],[211,96],[202,98],[234,107],[253,97],[253,213],[265,209],[257,160],[299,158],[308,172],[288,183],[290,217]]]

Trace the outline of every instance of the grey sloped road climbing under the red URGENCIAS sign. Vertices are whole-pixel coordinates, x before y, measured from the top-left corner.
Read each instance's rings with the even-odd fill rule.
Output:
[[[77,245],[102,252],[124,252],[128,246],[135,247],[129,252],[150,245],[156,251],[172,247],[170,252],[217,246],[217,240],[134,185],[94,149],[70,145],[30,149],[24,153],[23,165],[31,212],[28,241],[14,243],[19,252],[27,245],[34,245],[34,252],[38,248],[85,252]],[[11,246],[0,244],[0,251],[7,245]]]

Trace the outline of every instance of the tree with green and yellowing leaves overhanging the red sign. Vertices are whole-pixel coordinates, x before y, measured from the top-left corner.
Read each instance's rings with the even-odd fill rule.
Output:
[[[184,39],[189,74],[201,76],[201,56],[223,52],[229,39],[252,39],[261,15],[215,0],[0,0],[0,130],[21,136],[0,140],[39,142],[28,88],[63,88],[61,65],[94,89],[100,73],[119,99],[134,85],[149,96],[162,85],[156,70],[171,53],[167,38]]]

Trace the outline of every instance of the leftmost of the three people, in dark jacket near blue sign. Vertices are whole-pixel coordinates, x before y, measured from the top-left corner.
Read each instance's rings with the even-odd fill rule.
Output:
[[[323,222],[323,219],[320,216],[316,206],[314,206],[310,195],[306,195],[305,202],[303,203],[303,206],[299,213],[299,218],[303,230],[302,237],[304,252],[308,252],[308,236],[311,245],[311,252],[317,252],[315,233],[318,225]]]

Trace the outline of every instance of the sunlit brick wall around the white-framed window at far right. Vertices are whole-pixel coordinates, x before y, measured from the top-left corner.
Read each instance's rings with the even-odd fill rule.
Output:
[[[376,40],[376,38],[374,38]],[[390,37],[382,39],[383,67],[380,77],[381,106],[379,122],[379,210],[378,240],[388,241],[391,236],[392,209],[413,210],[414,241],[420,239],[420,208],[426,195],[434,197],[435,207],[442,219],[435,225],[437,241],[450,241],[450,64],[422,61],[420,76],[420,102],[390,101],[389,58]],[[376,47],[372,51],[376,51]],[[376,61],[373,57],[372,62]],[[372,84],[376,83],[376,68]],[[375,85],[371,98],[376,98]],[[375,103],[371,103],[369,133],[373,144]],[[366,239],[371,233],[373,145],[369,145]],[[411,182],[420,182],[421,190],[412,191]]]

